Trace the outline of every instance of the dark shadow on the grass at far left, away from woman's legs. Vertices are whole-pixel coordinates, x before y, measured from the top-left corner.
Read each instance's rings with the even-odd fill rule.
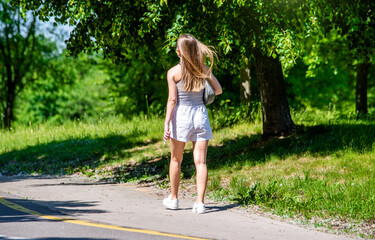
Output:
[[[104,138],[73,138],[29,146],[0,155],[3,175],[19,173],[72,174],[95,169],[131,155],[127,149],[156,141],[141,141],[143,133],[110,135]]]

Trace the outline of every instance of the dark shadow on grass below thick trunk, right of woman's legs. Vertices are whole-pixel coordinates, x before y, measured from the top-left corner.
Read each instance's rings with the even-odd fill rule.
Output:
[[[327,156],[345,149],[370,152],[374,146],[375,124],[297,126],[296,131],[285,138],[261,140],[261,135],[257,134],[228,141],[223,146],[209,147],[208,166],[221,169],[235,164],[256,165],[272,156],[281,159],[304,153]]]

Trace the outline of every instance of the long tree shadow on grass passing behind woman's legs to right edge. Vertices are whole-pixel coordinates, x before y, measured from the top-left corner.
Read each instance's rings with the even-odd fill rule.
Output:
[[[356,152],[371,151],[375,136],[375,124],[338,124],[297,126],[296,131],[285,138],[261,140],[261,134],[228,139],[220,146],[209,146],[207,165],[209,170],[236,166],[256,165],[277,156],[280,159],[304,153],[317,156],[339,154],[351,149]],[[137,180],[141,183],[165,180],[169,172],[169,155],[150,158],[134,165],[123,165],[114,169],[116,182]],[[182,177],[195,175],[192,150],[186,150],[181,165]]]

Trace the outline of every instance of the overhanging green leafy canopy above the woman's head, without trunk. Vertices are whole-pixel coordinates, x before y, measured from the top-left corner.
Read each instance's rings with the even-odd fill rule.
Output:
[[[65,0],[49,4],[20,1],[20,6],[33,10],[44,20],[58,16],[58,22],[76,24],[68,41],[68,49],[74,56],[81,51],[103,49],[105,57],[126,61],[129,50],[153,46],[165,38],[164,48],[168,52],[177,37],[188,32],[218,46],[218,50],[227,55],[223,60],[227,69],[235,67],[244,57],[252,56],[254,46],[269,55],[285,54],[282,61],[289,69],[298,55],[293,39],[299,39],[296,34],[302,32],[304,3],[299,0],[192,0],[184,3]]]

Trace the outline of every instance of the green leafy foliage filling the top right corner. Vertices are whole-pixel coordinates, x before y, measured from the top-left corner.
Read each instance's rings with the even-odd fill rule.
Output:
[[[337,3],[331,0],[310,1],[304,57],[308,76],[317,65],[354,68],[358,63],[374,63],[375,12],[373,1],[355,0]]]

